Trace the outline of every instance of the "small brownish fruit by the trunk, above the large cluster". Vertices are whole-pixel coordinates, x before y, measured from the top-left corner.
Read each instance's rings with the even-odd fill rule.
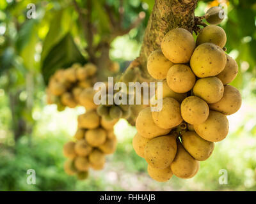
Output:
[[[205,20],[207,20],[209,24],[220,24],[223,19],[224,11],[219,6],[213,6],[205,13]]]

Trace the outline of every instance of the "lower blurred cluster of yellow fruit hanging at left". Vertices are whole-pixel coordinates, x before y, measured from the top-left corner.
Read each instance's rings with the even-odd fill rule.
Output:
[[[63,154],[68,158],[64,170],[82,180],[88,177],[89,168],[102,170],[106,154],[115,152],[117,141],[113,126],[117,120],[105,120],[95,110],[88,110],[79,115],[77,122],[73,140],[63,147]]]

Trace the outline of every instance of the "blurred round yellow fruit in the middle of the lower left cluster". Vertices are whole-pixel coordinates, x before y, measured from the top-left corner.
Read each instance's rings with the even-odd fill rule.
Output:
[[[85,133],[86,142],[92,147],[99,147],[107,139],[107,133],[103,128],[88,129]]]

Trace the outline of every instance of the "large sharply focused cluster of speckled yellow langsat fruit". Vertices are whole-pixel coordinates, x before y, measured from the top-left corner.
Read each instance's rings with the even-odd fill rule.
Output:
[[[226,40],[217,25],[204,27],[196,42],[186,29],[172,29],[161,50],[148,57],[148,73],[163,80],[163,108],[139,113],[133,147],[147,161],[152,179],[194,177],[199,161],[211,156],[214,142],[227,136],[226,115],[239,110],[241,95],[228,85],[238,66],[223,50]],[[180,131],[180,124],[187,128]]]

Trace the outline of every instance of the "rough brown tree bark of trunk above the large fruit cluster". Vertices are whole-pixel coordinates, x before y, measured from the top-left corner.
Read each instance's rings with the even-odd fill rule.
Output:
[[[192,33],[195,27],[197,0],[156,0],[145,30],[140,57],[143,77],[151,78],[147,72],[147,58],[153,50],[160,48],[163,36],[173,28],[182,27]]]

